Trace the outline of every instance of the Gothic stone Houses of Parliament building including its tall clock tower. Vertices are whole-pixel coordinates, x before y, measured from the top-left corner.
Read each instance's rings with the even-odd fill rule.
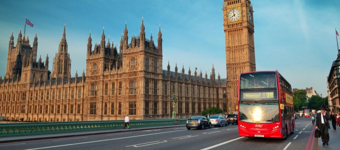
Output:
[[[228,16],[231,9],[239,10],[237,18]],[[130,39],[125,24],[119,47],[106,41],[104,30],[98,44],[92,45],[89,34],[86,69],[79,75],[70,74],[65,26],[51,71],[48,55],[36,60],[36,34],[30,45],[20,30],[14,46],[12,33],[6,73],[0,77],[0,115],[22,121],[120,120],[126,114],[131,119],[169,118],[173,95],[177,117],[200,115],[210,107],[230,113],[237,109],[237,75],[255,66],[250,0],[224,0],[223,26],[227,71],[223,79],[213,65],[209,77],[183,66],[178,71],[177,65],[171,71],[169,63],[163,69],[161,29],[155,40],[152,33],[146,38],[143,20],[139,35]]]

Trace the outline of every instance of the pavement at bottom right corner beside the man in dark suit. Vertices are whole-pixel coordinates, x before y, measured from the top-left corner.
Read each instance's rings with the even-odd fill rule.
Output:
[[[322,146],[322,140],[321,138],[318,138],[317,140],[317,147],[318,149],[339,149],[340,147],[340,127],[336,126],[336,130],[333,129],[331,126],[331,122],[329,122],[330,129],[328,129],[329,133],[329,145]]]

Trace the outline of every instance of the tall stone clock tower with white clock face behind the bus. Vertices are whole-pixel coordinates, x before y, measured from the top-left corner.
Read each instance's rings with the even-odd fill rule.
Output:
[[[227,101],[236,110],[237,81],[241,72],[255,71],[254,24],[250,0],[224,0]]]

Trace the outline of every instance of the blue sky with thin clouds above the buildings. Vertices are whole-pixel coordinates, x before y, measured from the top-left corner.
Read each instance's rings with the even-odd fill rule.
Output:
[[[169,61],[185,72],[195,67],[203,74],[212,64],[225,78],[222,26],[223,0],[0,0],[0,74],[5,73],[11,32],[16,43],[25,16],[30,43],[37,32],[42,60],[49,69],[58,49],[63,24],[71,57],[71,74],[85,67],[89,31],[92,44],[102,27],[117,44],[127,23],[128,35],[138,35],[143,17],[146,37],[154,40],[160,24],[163,69]],[[340,30],[340,0],[251,0],[254,16],[256,70],[278,70],[293,88],[314,87],[326,95],[326,76],[336,59],[335,27]],[[129,38],[130,39],[130,38]]]

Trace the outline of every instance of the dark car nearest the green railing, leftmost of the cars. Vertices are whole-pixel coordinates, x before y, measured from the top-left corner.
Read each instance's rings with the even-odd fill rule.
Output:
[[[204,129],[205,127],[211,128],[211,123],[208,118],[205,116],[191,116],[186,120],[186,128],[200,128]]]

